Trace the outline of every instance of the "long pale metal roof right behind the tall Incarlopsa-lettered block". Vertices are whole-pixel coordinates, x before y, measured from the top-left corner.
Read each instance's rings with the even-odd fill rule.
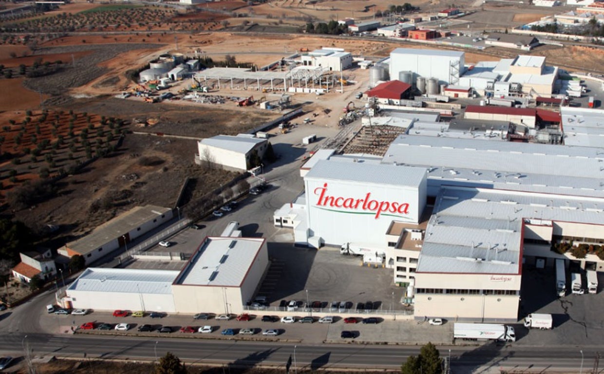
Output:
[[[604,152],[596,148],[400,135],[385,164],[428,168],[435,183],[604,196]]]

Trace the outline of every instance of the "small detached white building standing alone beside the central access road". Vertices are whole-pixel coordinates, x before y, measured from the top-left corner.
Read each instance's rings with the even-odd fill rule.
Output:
[[[198,141],[195,163],[209,162],[228,170],[249,170],[254,152],[260,160],[266,152],[268,141],[254,135],[216,135]]]

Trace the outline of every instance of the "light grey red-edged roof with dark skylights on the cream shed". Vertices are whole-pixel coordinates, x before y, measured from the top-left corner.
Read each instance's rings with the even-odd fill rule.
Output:
[[[264,242],[252,237],[207,237],[175,284],[239,287]]]

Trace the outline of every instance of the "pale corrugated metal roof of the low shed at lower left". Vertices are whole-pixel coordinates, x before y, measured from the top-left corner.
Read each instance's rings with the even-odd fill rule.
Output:
[[[178,271],[88,268],[68,288],[74,291],[172,294]]]

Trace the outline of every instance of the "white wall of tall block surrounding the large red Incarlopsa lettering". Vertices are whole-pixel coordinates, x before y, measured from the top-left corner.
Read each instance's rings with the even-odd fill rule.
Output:
[[[362,199],[367,193],[371,193],[371,200],[409,204],[408,214],[393,216],[390,215],[391,213],[382,212],[379,218],[376,218],[376,211],[362,210],[361,207],[356,209],[331,207],[330,205],[318,207],[317,203],[320,198],[318,193],[325,182],[324,179],[304,179],[309,236],[321,237],[327,245],[342,245],[346,242],[384,245],[384,234],[391,221],[417,223],[425,205],[425,182],[419,187],[413,188],[352,181],[329,181],[327,196]],[[359,227],[362,227],[363,230],[358,230]]]

